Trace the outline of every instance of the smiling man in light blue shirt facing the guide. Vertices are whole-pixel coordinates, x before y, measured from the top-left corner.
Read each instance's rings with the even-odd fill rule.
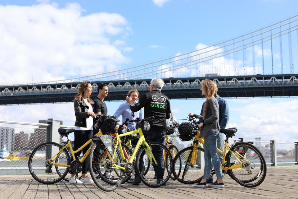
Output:
[[[132,89],[127,93],[127,96],[131,97],[131,101],[133,104],[136,103],[136,101],[139,99],[139,92],[137,89]],[[114,117],[119,118],[120,115],[122,116],[122,122],[124,122],[126,120],[126,118],[129,118],[130,120],[132,119],[136,119],[136,118],[143,118],[143,113],[142,113],[142,109],[140,109],[137,112],[132,112],[129,108],[129,103],[124,102],[122,104],[120,104],[120,106],[118,107],[118,109],[116,110],[116,112],[114,113]],[[118,125],[121,125],[120,122],[117,122]],[[124,126],[125,128],[130,128],[130,129],[135,129],[136,127],[136,123],[132,122],[129,123],[126,126]]]

